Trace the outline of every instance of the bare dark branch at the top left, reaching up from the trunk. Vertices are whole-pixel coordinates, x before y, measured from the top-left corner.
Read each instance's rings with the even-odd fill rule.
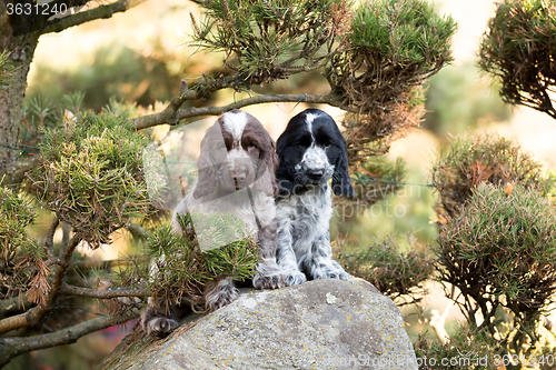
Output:
[[[73,16],[54,19],[47,22],[44,29],[42,29],[42,33],[61,32],[64,29],[87,23],[91,20],[111,18],[115,13],[127,11],[145,1],[147,0],[119,0]]]

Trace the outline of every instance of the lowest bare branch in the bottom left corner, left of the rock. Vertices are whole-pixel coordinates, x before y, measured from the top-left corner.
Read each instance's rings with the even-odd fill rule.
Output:
[[[79,338],[83,336],[112,327],[115,324],[127,322],[129,320],[138,318],[139,316],[140,311],[133,310],[118,317],[100,317],[91,319],[77,326],[56,331],[53,333],[27,338],[0,338],[0,368],[19,354],[54,346],[75,343]]]

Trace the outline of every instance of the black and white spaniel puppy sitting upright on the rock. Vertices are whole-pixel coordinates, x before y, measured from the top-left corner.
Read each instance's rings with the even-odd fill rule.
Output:
[[[288,286],[309,279],[349,276],[331,259],[331,191],[354,197],[346,141],[334,119],[319,109],[294,117],[277,141],[278,248],[276,259]],[[331,181],[331,189],[328,183]]]

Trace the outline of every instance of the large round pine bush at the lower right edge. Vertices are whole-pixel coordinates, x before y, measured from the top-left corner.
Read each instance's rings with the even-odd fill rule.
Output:
[[[556,214],[550,203],[522,184],[504,189],[483,183],[460,214],[441,227],[435,252],[438,279],[461,291],[469,322],[476,327],[474,313],[480,310],[483,327],[494,333],[496,310],[504,308],[517,329],[505,333],[506,346],[527,353],[537,341],[539,316],[556,293]]]

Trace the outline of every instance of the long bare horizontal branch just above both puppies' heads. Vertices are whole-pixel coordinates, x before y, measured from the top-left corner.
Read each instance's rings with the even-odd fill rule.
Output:
[[[309,96],[309,94],[269,94],[257,96],[238,100],[234,103],[224,107],[202,107],[202,108],[188,108],[177,109],[176,104],[169,104],[163,111],[149,116],[138,117],[131,120],[137,130],[147,129],[153,126],[169,123],[177,124],[180,120],[200,116],[219,116],[232,109],[239,109],[254,104],[270,103],[270,102],[309,102],[329,104],[332,107],[341,108],[349,112],[357,110],[349,107],[337,99],[336,96],[329,93],[326,96]]]

